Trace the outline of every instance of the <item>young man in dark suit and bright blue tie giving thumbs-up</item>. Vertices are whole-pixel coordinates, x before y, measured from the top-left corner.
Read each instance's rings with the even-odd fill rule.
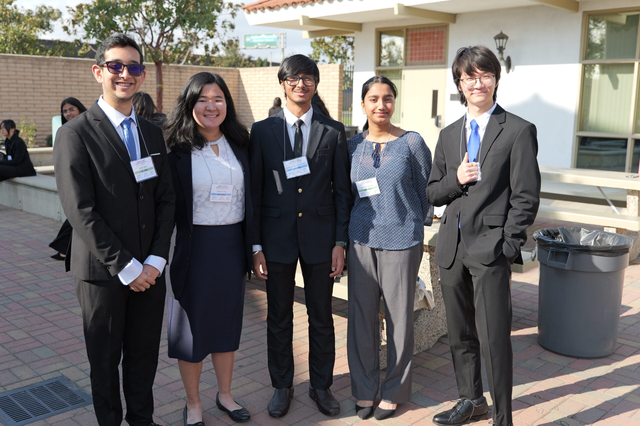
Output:
[[[511,420],[511,264],[522,264],[540,204],[536,126],[495,103],[500,62],[484,46],[458,50],[452,73],[465,116],[440,132],[427,186],[447,205],[438,235],[449,346],[460,401],[434,416],[442,426],[486,416],[480,351],[486,361],[493,422]]]

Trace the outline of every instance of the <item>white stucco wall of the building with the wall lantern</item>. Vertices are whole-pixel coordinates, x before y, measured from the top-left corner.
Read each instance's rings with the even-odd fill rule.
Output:
[[[502,31],[509,36],[505,55],[511,56],[513,69],[507,74],[503,68],[498,102],[504,109],[537,126],[540,165],[571,167],[579,99],[582,11],[637,5],[637,0],[588,0],[580,1],[579,13],[543,5],[458,13],[456,24],[449,26],[445,125],[456,121],[465,110],[459,102],[449,100],[449,95],[457,93],[451,77],[456,50],[476,44],[495,50],[493,36]],[[393,25],[420,23],[420,20],[406,19],[394,21]],[[355,36],[353,123],[358,126],[362,126],[365,119],[360,112],[360,87],[375,72],[375,31],[388,26],[389,22],[367,23],[362,33]],[[426,105],[427,109],[430,107],[430,103]]]

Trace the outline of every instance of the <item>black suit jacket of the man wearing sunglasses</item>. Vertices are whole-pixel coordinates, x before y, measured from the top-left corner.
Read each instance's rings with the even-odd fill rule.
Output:
[[[141,183],[97,102],[56,133],[58,194],[74,229],[67,271],[80,280],[111,280],[132,257],[168,259],[175,194],[166,146],[158,126],[140,117],[138,125],[141,156],[151,155],[158,174]]]

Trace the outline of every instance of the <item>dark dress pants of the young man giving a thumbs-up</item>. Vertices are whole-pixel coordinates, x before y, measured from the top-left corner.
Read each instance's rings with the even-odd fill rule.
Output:
[[[496,426],[511,424],[513,353],[511,352],[511,265],[506,257],[484,265],[467,253],[458,237],[456,259],[440,268],[442,297],[458,393],[483,395],[480,349],[484,355]]]

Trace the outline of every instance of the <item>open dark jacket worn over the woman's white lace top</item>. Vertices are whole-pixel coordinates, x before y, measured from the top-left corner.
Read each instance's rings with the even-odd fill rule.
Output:
[[[252,219],[253,204],[251,198],[251,179],[249,172],[249,154],[247,148],[240,148],[229,142],[244,175],[244,220],[242,222],[244,247],[246,252],[247,273],[252,266]],[[175,248],[171,259],[171,288],[173,296],[180,299],[191,254],[191,234],[193,233],[193,181],[191,178],[191,153],[172,151],[168,153],[169,167],[175,188]],[[224,247],[220,247],[224,250]]]

